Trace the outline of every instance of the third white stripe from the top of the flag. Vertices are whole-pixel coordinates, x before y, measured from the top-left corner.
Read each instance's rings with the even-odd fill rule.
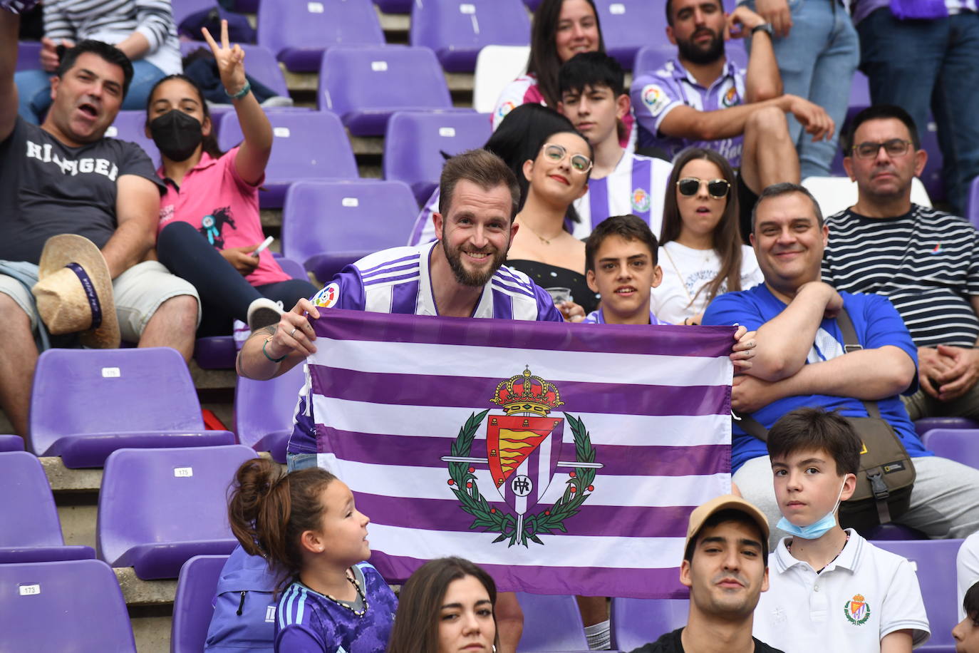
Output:
[[[400,496],[406,498],[445,499],[457,503],[458,499],[446,485],[448,472],[438,468],[409,467],[407,465],[374,465],[350,460],[337,460],[332,453],[320,453],[317,461],[339,478],[350,490]],[[503,499],[494,489],[488,469],[477,469],[476,483],[490,502],[502,504]],[[550,505],[564,492],[568,481],[567,472],[558,472],[541,498]],[[595,491],[588,495],[587,505],[611,506],[674,506],[676,497],[682,496],[689,505],[699,505],[719,494],[730,491],[730,474],[703,476],[601,476],[595,478]],[[368,517],[374,517],[368,515]],[[674,561],[676,564],[676,560]]]

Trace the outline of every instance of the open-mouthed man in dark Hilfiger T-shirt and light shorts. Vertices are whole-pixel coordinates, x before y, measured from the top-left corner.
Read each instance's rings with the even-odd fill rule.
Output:
[[[17,116],[20,19],[0,9],[0,407],[25,435],[38,350],[30,294],[44,242],[85,236],[113,276],[122,339],[173,347],[190,358],[199,301],[194,287],[152,257],[159,181],[139,146],[105,138],[132,65],[117,48],[82,41],[61,55],[52,105],[40,126]],[[79,282],[80,283],[80,282]]]

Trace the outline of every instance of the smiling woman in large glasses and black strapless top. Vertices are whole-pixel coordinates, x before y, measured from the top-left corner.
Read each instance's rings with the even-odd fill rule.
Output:
[[[588,190],[591,156],[588,141],[574,130],[540,143],[536,157],[524,163],[527,194],[506,261],[542,288],[571,290],[571,301],[585,313],[598,307],[598,298],[584,279],[584,243],[571,235],[565,216]]]

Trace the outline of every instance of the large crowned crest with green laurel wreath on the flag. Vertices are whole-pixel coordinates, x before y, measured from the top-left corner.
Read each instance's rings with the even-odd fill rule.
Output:
[[[472,413],[459,429],[451,455],[442,457],[448,463],[449,488],[460,507],[475,517],[469,529],[497,533],[493,542],[507,539],[508,546],[529,546],[529,540],[543,544],[540,535],[567,533],[565,521],[579,512],[595,490],[595,473],[603,467],[595,462],[595,449],[582,420],[567,412],[563,418],[549,416],[564,401],[558,388],[533,375],[529,366],[522,374],[501,381],[489,402],[501,406],[503,414]],[[485,458],[472,455],[484,420]],[[563,446],[565,421],[574,435],[573,450]],[[564,449],[569,455],[563,455]],[[572,456],[574,460],[562,460]],[[490,505],[480,493],[475,465],[489,467],[496,492],[512,512]],[[573,468],[563,494],[549,508],[532,512],[560,467]]]

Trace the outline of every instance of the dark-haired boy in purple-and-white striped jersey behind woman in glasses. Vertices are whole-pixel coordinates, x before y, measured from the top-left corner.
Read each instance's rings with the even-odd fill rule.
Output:
[[[620,121],[629,116],[625,73],[602,52],[583,52],[561,67],[561,103],[568,117],[594,149],[588,192],[575,201],[581,218],[574,235],[586,238],[610,215],[632,213],[654,234],[663,222],[663,196],[673,165],[629,152],[619,144]]]

